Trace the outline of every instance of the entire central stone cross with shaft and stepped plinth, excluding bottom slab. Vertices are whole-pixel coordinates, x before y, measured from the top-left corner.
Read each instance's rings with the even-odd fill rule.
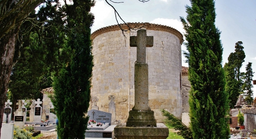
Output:
[[[154,111],[148,105],[148,64],[146,47],[153,46],[153,36],[147,36],[144,29],[137,31],[137,36],[130,37],[130,46],[137,47],[137,63],[134,68],[135,103],[129,111],[126,126],[156,126]]]

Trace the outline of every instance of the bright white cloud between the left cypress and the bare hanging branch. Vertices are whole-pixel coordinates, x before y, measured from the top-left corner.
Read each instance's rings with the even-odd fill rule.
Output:
[[[105,2],[105,0],[96,0],[95,6],[91,8],[91,12],[95,17],[92,32],[102,27],[106,27],[108,25],[107,22],[114,16],[114,10]]]

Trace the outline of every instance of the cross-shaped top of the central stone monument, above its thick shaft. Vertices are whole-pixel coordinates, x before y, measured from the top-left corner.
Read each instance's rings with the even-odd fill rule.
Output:
[[[147,36],[147,31],[137,31],[137,36],[130,36],[130,47],[137,47],[137,63],[146,63],[146,47],[153,46],[153,36]]]

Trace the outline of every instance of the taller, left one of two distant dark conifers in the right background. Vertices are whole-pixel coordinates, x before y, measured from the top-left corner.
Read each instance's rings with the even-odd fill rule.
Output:
[[[229,94],[229,107],[233,108],[240,93],[242,92],[242,79],[240,69],[244,62],[245,53],[242,42],[239,41],[235,45],[235,52],[230,53],[228,63],[224,65],[226,76],[226,92]]]

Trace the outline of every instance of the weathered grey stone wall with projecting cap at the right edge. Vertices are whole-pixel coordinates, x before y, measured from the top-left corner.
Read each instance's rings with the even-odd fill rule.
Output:
[[[245,130],[253,131],[256,129],[256,109],[243,109],[243,113]]]

